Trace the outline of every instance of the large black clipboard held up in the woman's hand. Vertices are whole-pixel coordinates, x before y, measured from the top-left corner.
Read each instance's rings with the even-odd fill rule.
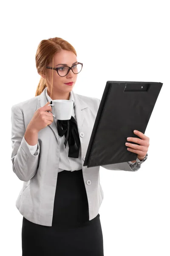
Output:
[[[162,85],[161,82],[107,81],[83,166],[136,160],[137,154],[128,151],[125,145],[127,137],[139,138],[134,130],[145,132]]]

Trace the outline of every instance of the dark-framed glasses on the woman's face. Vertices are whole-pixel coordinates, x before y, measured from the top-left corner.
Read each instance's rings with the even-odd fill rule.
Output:
[[[82,63],[78,62],[77,64],[74,64],[71,67],[63,66],[63,67],[46,67],[49,69],[54,69],[57,71],[59,76],[67,76],[70,70],[73,71],[74,74],[78,74],[82,70]]]

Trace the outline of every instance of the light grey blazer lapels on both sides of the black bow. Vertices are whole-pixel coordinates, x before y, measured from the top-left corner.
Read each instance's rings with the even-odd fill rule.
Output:
[[[88,108],[88,105],[84,101],[82,101],[77,95],[77,93],[74,93],[73,90],[72,90],[72,93],[73,93],[74,102],[75,102],[74,109],[75,109],[75,115],[77,119],[77,128],[80,133],[82,129],[83,121],[85,119],[84,110]],[[45,89],[44,89],[38,97],[37,109],[43,107],[46,103],[47,103],[47,99],[45,96]],[[48,127],[54,132],[59,143],[59,135],[58,135],[57,125],[55,124],[55,122],[52,122],[51,125],[48,125],[46,128]]]

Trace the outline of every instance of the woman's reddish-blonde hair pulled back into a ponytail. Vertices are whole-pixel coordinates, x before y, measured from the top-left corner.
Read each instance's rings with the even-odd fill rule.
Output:
[[[37,72],[39,74],[40,73],[44,74],[46,67],[51,62],[51,59],[53,61],[52,67],[54,67],[54,55],[57,52],[60,52],[62,49],[74,52],[74,54],[77,56],[77,52],[74,49],[74,47],[62,38],[56,37],[56,38],[48,38],[47,40],[42,40],[38,45],[37,52],[35,55]],[[45,79],[41,77],[40,82],[37,86],[35,96],[40,95],[42,91],[45,89],[45,87],[47,87],[45,84]],[[52,87],[53,87],[53,72],[52,72],[51,93],[52,93]]]

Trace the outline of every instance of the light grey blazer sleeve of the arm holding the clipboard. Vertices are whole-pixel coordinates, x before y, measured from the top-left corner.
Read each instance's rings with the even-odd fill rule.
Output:
[[[99,100],[99,105],[100,105],[101,99],[98,99],[98,100]],[[105,169],[108,169],[108,170],[113,170],[113,171],[135,172],[141,168],[141,163],[137,164],[136,162],[132,163],[131,161],[129,161],[129,162],[124,162],[124,163],[106,164],[102,167]]]

